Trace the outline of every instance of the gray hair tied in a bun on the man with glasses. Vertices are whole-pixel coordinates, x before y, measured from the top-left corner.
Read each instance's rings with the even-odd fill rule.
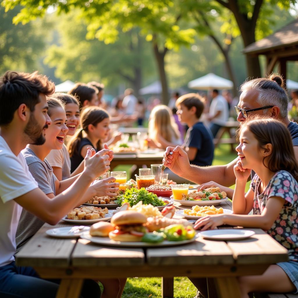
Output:
[[[256,90],[259,92],[257,102],[265,107],[277,105],[280,108],[280,117],[288,117],[288,94],[283,88],[283,78],[278,74],[271,74],[268,78],[257,78],[246,81],[240,86],[240,91]],[[264,110],[266,114],[267,110]]]

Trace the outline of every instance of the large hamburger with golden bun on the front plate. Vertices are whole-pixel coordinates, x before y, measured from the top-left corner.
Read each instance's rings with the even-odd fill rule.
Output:
[[[142,237],[148,232],[148,229],[143,226],[146,222],[146,216],[139,212],[119,211],[111,218],[111,224],[115,230],[109,232],[109,238],[125,242],[142,241]]]

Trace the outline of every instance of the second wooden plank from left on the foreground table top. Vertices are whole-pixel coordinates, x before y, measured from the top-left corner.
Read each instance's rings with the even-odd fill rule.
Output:
[[[79,239],[72,253],[72,266],[131,266],[144,263],[143,249],[111,248],[85,239]]]

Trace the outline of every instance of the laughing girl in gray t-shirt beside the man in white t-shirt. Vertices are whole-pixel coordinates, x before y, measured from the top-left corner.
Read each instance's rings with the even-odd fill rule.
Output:
[[[25,157],[29,171],[38,183],[38,187],[49,198],[54,198],[56,194],[67,190],[78,176],[59,182],[53,173],[52,167],[45,158],[52,149],[62,150],[63,140],[67,133],[67,119],[62,102],[54,97],[50,97],[47,99],[47,103],[49,106],[48,115],[52,123],[49,124],[46,131],[46,141],[43,145],[29,144],[21,153]],[[116,196],[116,193],[111,191],[114,191],[113,186],[117,187],[119,184],[112,183],[113,181],[115,181],[114,177],[110,177],[96,184],[92,184],[83,197],[87,201],[91,197],[90,193],[93,192],[94,187],[96,188],[98,196]],[[27,243],[43,225],[44,221],[23,209],[15,237],[17,244],[16,252],[20,251],[24,244]],[[119,291],[121,291],[122,294],[126,279],[104,279],[101,280],[101,283],[103,283],[104,287],[102,298],[118,297]],[[120,297],[121,295],[119,298]]]

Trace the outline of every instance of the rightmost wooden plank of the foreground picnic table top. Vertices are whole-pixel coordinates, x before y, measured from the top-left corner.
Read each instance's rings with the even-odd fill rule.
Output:
[[[262,229],[252,229],[256,234],[241,241],[227,241],[237,264],[276,264],[288,260],[288,250]]]

